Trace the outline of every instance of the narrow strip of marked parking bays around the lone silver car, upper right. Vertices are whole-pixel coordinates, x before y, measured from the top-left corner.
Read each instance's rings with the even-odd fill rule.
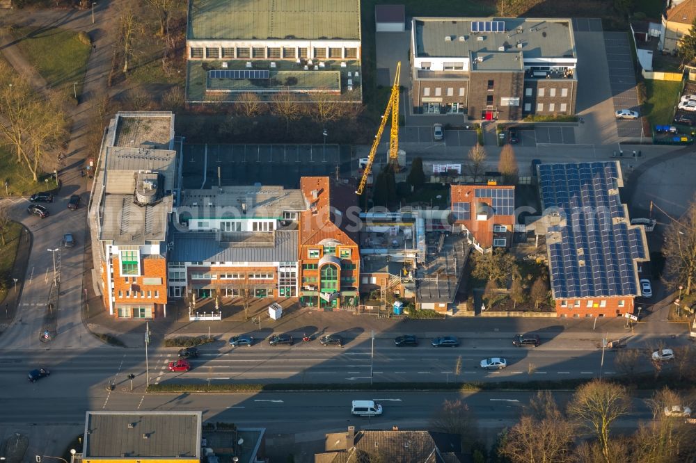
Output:
[[[609,84],[611,86],[614,111],[630,109],[640,112],[638,93],[635,91],[635,72],[631,59],[629,37],[623,32],[605,32],[607,63],[609,65]],[[617,120],[619,137],[640,137],[642,124],[639,120]]]

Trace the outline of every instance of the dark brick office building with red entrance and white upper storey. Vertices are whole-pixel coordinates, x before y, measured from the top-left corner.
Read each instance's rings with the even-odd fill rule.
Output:
[[[413,18],[413,109],[519,120],[576,111],[570,19]]]

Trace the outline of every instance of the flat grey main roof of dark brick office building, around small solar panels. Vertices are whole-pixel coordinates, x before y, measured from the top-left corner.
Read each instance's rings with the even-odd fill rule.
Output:
[[[503,33],[472,33],[471,23],[503,21]],[[527,58],[576,58],[570,19],[533,18],[414,18],[416,56],[459,57],[470,52],[519,51]],[[445,40],[449,37],[450,40]],[[466,40],[459,40],[464,37]],[[483,40],[478,40],[483,38]]]

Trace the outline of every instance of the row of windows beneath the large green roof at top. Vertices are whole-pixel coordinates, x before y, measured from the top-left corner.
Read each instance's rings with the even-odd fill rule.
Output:
[[[209,59],[246,59],[246,58],[274,58],[274,59],[295,59],[309,58],[307,47],[191,47],[191,58]],[[342,47],[313,47],[311,58],[318,59],[342,59]],[[346,48],[345,58],[358,58],[357,48]]]

